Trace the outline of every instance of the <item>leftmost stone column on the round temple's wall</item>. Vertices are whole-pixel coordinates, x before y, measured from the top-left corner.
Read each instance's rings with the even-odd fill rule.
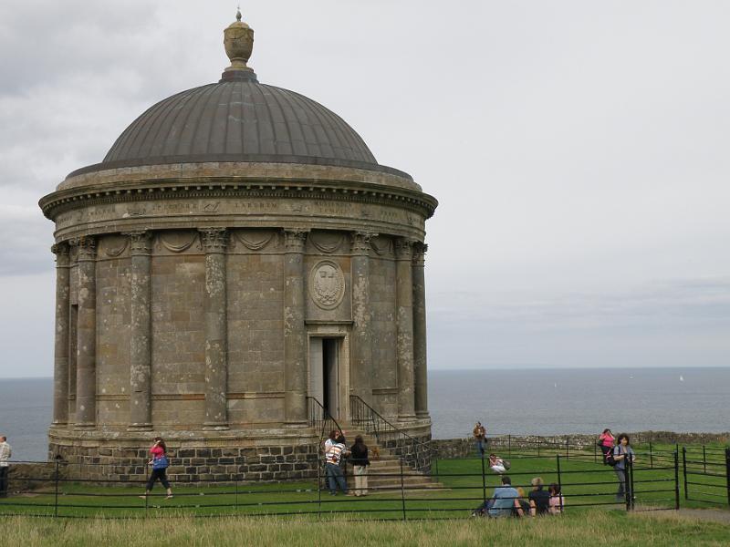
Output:
[[[51,247],[56,254],[56,346],[53,359],[53,425],[68,424],[68,319],[70,262],[68,243]]]

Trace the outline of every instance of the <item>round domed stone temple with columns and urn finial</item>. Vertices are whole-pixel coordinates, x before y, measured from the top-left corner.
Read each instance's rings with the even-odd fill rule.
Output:
[[[56,224],[51,457],[129,473],[162,435],[187,465],[173,475],[306,476],[313,409],[344,428],[351,400],[431,437],[437,202],[337,114],[259,83],[236,18],[220,81],[153,105],[40,201]]]

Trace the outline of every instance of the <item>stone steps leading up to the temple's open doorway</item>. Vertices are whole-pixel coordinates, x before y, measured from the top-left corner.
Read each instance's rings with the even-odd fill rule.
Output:
[[[400,494],[401,493],[401,461],[398,456],[392,453],[391,449],[385,449],[378,444],[374,435],[366,433],[362,429],[346,427],[347,444],[351,446],[355,437],[362,436],[370,453],[370,467],[368,468],[368,493],[369,494]],[[380,458],[372,457],[372,449],[377,447],[380,451]],[[429,490],[445,490],[443,484],[433,480],[429,475],[412,469],[411,466],[403,463],[402,466],[402,487],[408,493],[427,492]],[[355,486],[355,479],[352,476],[352,466],[347,467],[348,486],[350,489]]]

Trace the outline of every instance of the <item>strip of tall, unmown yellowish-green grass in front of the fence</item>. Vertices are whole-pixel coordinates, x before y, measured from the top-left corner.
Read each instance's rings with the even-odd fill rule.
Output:
[[[269,518],[190,520],[158,513],[146,520],[65,520],[10,517],[3,523],[6,545],[97,547],[126,545],[210,547],[286,545],[304,547],[333,541],[358,546],[596,545],[621,547],[727,545],[730,527],[683,518],[673,511],[627,514],[593,510],[560,518],[470,519],[379,522],[301,521]]]

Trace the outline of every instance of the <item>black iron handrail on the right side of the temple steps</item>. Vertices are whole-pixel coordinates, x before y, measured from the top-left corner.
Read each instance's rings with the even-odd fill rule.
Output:
[[[413,470],[431,472],[431,462],[438,456],[430,441],[415,439],[396,428],[357,395],[349,396],[349,415],[353,426],[374,435],[381,447],[391,449],[393,454]]]

